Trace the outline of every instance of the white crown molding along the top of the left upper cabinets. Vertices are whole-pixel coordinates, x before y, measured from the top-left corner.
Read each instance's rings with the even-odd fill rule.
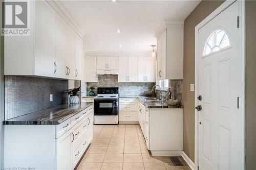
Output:
[[[76,21],[70,16],[70,14],[67,12],[67,9],[63,7],[63,5],[59,1],[51,1],[47,0],[47,2],[59,13],[59,15],[66,20],[66,22],[69,23],[72,29],[75,30],[75,32],[82,38],[83,32],[81,28],[77,25]]]

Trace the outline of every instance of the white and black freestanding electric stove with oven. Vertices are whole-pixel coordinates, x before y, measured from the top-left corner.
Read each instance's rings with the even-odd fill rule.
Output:
[[[118,87],[98,87],[94,98],[94,124],[118,124]]]

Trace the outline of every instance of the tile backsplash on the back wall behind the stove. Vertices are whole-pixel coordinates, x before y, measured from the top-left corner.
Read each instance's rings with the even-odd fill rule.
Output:
[[[140,95],[143,91],[151,90],[155,83],[118,83],[117,75],[99,75],[97,83],[87,83],[97,87],[118,87],[119,95]],[[94,90],[97,92],[97,90]],[[87,94],[89,90],[87,90]]]

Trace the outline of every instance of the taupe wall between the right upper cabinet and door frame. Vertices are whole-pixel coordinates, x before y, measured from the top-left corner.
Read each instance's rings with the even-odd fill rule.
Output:
[[[195,27],[223,1],[202,1],[185,19],[184,23],[184,80],[183,80],[183,150],[195,162]]]

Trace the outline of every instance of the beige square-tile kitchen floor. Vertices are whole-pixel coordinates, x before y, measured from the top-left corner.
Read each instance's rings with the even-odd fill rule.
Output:
[[[174,166],[169,157],[153,157],[147,151],[139,125],[94,126],[93,141],[78,170],[186,169]]]

